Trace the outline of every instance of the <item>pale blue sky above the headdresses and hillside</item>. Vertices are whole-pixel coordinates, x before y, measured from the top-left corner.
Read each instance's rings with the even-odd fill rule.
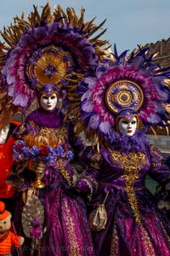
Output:
[[[47,0],[0,0],[0,29],[13,22],[15,15],[28,15],[33,4],[41,6]],[[103,39],[116,44],[118,52],[134,49],[137,44],[156,43],[170,37],[170,0],[49,0],[50,6],[60,4],[63,9],[73,7],[80,14],[86,9],[85,20],[96,16],[96,23],[107,19]]]

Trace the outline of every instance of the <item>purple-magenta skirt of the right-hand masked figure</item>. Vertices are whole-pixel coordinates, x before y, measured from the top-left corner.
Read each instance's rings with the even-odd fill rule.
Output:
[[[100,197],[100,199],[99,199]],[[101,194],[96,201],[101,201]],[[114,189],[106,201],[108,221],[105,230],[94,232],[96,255],[167,256],[170,255],[170,222],[156,207],[146,189],[136,191],[139,216],[135,219],[125,190]],[[95,201],[95,204],[96,204]]]

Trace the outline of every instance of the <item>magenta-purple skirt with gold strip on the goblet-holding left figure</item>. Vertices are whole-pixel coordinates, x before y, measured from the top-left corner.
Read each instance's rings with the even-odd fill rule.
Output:
[[[41,241],[41,256],[94,255],[94,245],[84,202],[62,189],[43,195],[47,231]]]

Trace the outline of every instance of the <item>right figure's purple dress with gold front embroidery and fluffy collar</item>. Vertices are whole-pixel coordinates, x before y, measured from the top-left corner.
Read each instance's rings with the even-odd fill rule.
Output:
[[[90,172],[99,181],[89,212],[110,191],[105,203],[108,215],[105,229],[93,232],[96,254],[170,255],[169,220],[161,214],[154,196],[144,185],[146,174],[159,183],[169,183],[170,170],[162,164],[160,152],[139,132],[133,137],[115,137],[112,145],[112,148],[100,148],[98,163],[94,164],[95,154],[90,148],[86,159],[89,163],[93,155],[88,178]]]

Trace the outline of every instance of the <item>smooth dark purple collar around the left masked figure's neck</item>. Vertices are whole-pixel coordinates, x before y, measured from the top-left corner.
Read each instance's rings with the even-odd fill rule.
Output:
[[[55,108],[54,111],[37,108],[26,117],[26,121],[29,120],[41,127],[57,128],[62,123],[63,115],[58,108]]]

